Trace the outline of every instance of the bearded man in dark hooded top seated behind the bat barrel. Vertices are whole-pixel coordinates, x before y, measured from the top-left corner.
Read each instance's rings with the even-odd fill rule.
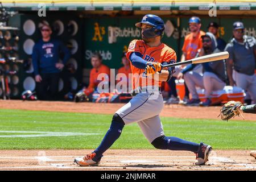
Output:
[[[220,52],[220,50],[217,48],[216,38],[212,33],[207,32],[207,34],[202,36],[202,41],[203,49],[200,51],[200,56]],[[210,106],[210,94],[212,91],[221,90],[226,85],[224,60],[203,63],[202,65],[204,73],[203,76],[192,71],[192,69],[196,67],[196,64],[189,64],[180,72],[179,76],[177,77],[177,79],[184,77],[189,92],[192,94],[192,99],[189,100],[185,105],[197,106],[200,104],[201,106]],[[200,99],[196,91],[196,86],[205,89],[206,100],[204,102],[200,103]]]

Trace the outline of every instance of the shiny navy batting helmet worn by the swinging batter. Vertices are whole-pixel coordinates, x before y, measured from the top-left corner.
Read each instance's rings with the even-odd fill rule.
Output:
[[[144,15],[141,22],[136,23],[135,26],[141,28],[142,23],[153,26],[152,28],[143,31],[143,36],[145,38],[155,38],[156,36],[163,36],[165,26],[164,21],[159,16],[152,14]]]

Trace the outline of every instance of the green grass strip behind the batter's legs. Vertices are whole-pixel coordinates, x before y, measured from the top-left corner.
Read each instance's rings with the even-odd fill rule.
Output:
[[[0,110],[0,149],[95,148],[109,129],[112,115]],[[214,149],[255,149],[256,121],[162,117],[167,136],[205,142]],[[9,133],[6,131],[13,131]],[[23,133],[19,133],[23,132]],[[86,133],[66,137],[11,137],[40,132]],[[3,136],[9,136],[5,138]],[[154,148],[136,123],[125,126],[112,148]]]

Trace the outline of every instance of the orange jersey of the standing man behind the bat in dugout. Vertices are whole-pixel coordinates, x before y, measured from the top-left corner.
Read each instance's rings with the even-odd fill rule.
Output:
[[[182,51],[185,55],[185,59],[193,59],[196,56],[198,49],[203,47],[201,36],[205,35],[205,32],[200,31],[197,37],[193,38],[193,34],[190,33],[185,36],[184,44],[182,47]]]

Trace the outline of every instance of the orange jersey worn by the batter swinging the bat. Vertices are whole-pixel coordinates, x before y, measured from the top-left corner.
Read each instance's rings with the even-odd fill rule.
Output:
[[[129,56],[132,52],[139,52],[142,55],[142,58],[145,61],[150,62],[158,62],[158,63],[170,63],[171,61],[173,63],[176,62],[176,53],[173,49],[166,46],[166,44],[162,43],[158,47],[149,47],[143,40],[133,40],[129,44],[129,48],[126,54],[127,59],[129,59]],[[131,62],[130,62],[131,64]],[[142,78],[142,73],[144,72],[144,69],[139,69],[134,67],[131,64],[131,72],[133,73],[133,89],[137,88],[138,86],[147,86],[147,85],[157,85],[160,87],[162,81],[155,82],[154,80],[147,78]]]

